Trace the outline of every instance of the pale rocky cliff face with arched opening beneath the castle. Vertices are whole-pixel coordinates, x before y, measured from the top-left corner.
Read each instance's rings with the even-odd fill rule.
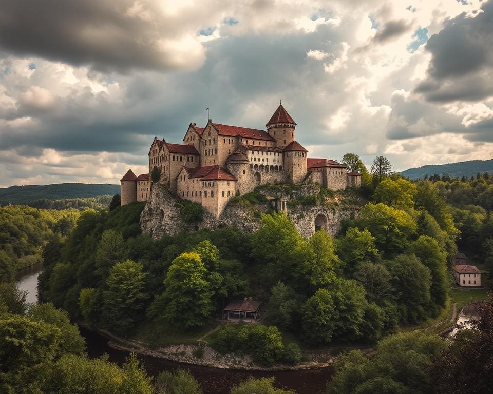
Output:
[[[154,239],[161,238],[165,233],[178,234],[182,231],[197,231],[203,228],[214,230],[223,226],[235,226],[243,233],[252,233],[260,226],[261,213],[274,211],[274,207],[279,206],[276,200],[282,199],[291,202],[285,212],[293,220],[301,235],[310,237],[315,232],[316,226],[320,226],[335,236],[340,231],[341,221],[357,217],[361,208],[357,205],[296,204],[298,199],[319,192],[320,188],[317,185],[301,185],[285,189],[267,187],[261,190],[261,194],[268,197],[270,200],[268,202],[255,205],[230,203],[217,220],[204,210],[202,222],[187,224],[181,219],[178,205],[180,200],[162,184],[153,183],[150,197],[141,214],[140,224],[142,231]]]

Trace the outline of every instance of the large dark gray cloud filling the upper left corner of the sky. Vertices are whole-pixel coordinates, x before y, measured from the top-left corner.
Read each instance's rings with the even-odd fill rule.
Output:
[[[91,65],[98,70],[186,66],[183,60],[177,61],[179,48],[166,47],[166,40],[179,40],[189,27],[186,19],[166,18],[148,2],[145,11],[139,11],[135,8],[138,4],[143,3],[0,0],[0,48],[21,56]],[[153,19],[149,20],[148,15]],[[192,60],[197,61],[200,44],[191,49],[195,49],[191,51]]]

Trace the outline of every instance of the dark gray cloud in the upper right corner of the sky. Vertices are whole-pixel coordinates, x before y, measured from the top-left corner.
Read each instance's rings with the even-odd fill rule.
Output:
[[[430,102],[480,101],[493,95],[493,1],[465,13],[430,37],[427,79],[415,91]]]

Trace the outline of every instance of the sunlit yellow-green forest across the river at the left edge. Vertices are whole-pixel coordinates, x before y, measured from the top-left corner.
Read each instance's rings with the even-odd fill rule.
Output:
[[[0,282],[13,280],[19,269],[41,263],[46,242],[68,235],[79,215],[76,209],[0,207]]]

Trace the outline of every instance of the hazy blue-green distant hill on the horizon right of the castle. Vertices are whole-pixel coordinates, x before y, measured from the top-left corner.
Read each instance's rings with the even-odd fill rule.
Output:
[[[433,174],[447,174],[450,176],[476,176],[478,172],[489,172],[493,174],[493,159],[490,160],[469,160],[467,162],[450,163],[450,164],[430,164],[428,166],[410,168],[408,170],[399,172],[401,175],[406,176],[409,179],[423,179],[426,174],[428,176]]]

